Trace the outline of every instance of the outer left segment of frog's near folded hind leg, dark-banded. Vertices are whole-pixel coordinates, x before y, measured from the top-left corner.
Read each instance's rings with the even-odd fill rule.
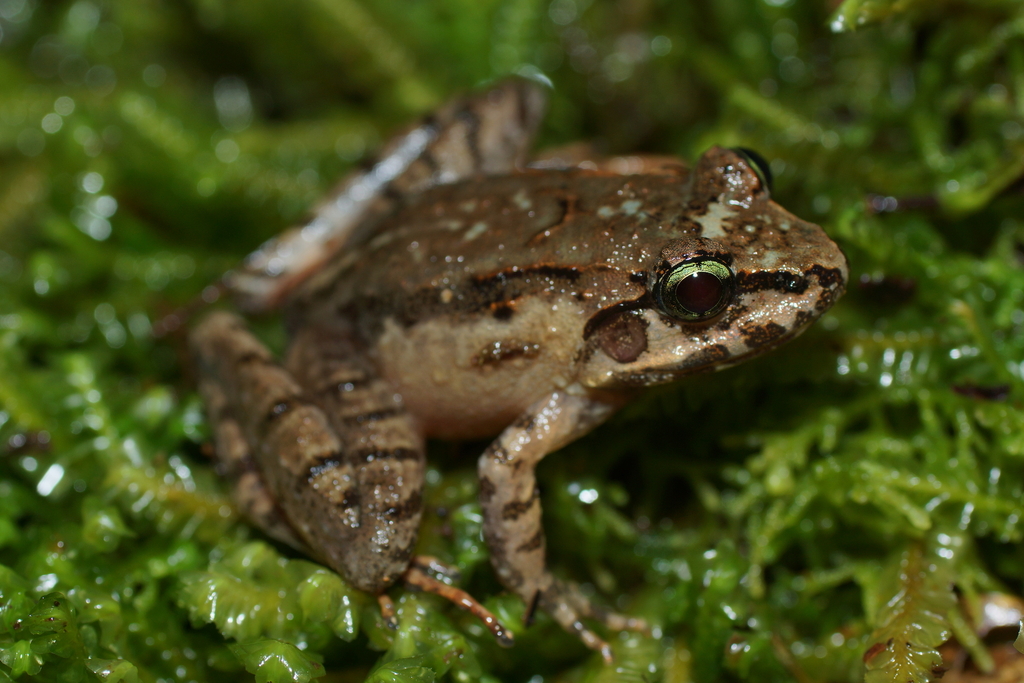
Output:
[[[241,442],[304,546],[355,587],[373,593],[387,588],[404,571],[408,552],[394,552],[393,535],[374,537],[376,520],[361,523],[358,473],[324,412],[237,315],[211,314],[190,342],[201,371],[212,378],[204,384],[221,394],[222,412],[233,418]],[[229,442],[238,447],[239,439]]]

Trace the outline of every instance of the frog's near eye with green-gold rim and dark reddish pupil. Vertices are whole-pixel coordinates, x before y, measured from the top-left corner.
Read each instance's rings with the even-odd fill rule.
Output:
[[[706,321],[728,305],[733,280],[729,266],[720,261],[684,261],[658,281],[654,295],[662,310],[672,317]]]

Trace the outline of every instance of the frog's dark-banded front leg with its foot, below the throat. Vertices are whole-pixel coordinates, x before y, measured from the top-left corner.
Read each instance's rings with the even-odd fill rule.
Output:
[[[506,428],[479,461],[483,535],[498,578],[525,601],[529,612],[544,609],[608,660],[611,648],[582,618],[617,630],[642,628],[643,623],[595,608],[575,586],[548,571],[534,470],[546,455],[587,433],[616,408],[612,399],[554,391]]]

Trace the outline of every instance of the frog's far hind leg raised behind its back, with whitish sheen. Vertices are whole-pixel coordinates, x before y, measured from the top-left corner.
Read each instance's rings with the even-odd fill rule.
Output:
[[[225,274],[226,289],[245,309],[273,308],[402,198],[512,172],[525,159],[546,99],[538,83],[513,78],[449,101],[395,135],[376,164],[345,178],[305,224],[264,243]]]

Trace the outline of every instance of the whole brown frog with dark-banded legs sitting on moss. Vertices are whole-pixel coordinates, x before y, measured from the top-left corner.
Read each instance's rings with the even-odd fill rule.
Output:
[[[228,312],[191,333],[221,467],[271,536],[379,597],[398,582],[472,609],[414,556],[424,439],[497,438],[479,458],[498,578],[590,647],[596,608],[545,563],[534,470],[646,386],[800,334],[843,293],[843,253],[770,197],[756,155],[525,155],[543,89],[501,83],[394,138],[227,286],[287,311],[279,362]]]

